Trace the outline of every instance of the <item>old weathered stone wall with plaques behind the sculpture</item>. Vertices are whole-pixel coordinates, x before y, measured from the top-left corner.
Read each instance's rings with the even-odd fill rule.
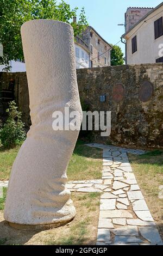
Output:
[[[100,131],[93,131],[92,141],[163,147],[162,64],[79,69],[77,77],[83,110],[111,111],[111,135],[101,137]],[[26,72],[1,72],[0,90],[8,88],[10,79],[15,81],[15,100],[29,128]],[[105,96],[105,102],[100,101],[100,96]]]

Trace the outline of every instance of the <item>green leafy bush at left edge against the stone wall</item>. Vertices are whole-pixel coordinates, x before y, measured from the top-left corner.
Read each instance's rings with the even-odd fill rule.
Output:
[[[4,148],[10,148],[21,144],[26,138],[26,132],[21,121],[21,112],[17,110],[15,101],[9,103],[6,112],[8,119],[0,129],[0,140]]]

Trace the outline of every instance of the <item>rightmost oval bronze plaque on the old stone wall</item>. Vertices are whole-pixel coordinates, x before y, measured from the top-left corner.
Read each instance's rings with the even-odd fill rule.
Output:
[[[142,102],[146,102],[149,99],[151,99],[152,94],[153,94],[152,83],[150,83],[149,81],[143,82],[143,84],[142,84],[142,86],[140,87],[140,90],[139,90],[139,99]]]

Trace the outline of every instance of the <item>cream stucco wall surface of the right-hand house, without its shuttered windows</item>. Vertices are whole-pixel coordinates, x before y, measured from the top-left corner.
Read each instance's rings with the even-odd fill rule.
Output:
[[[157,39],[154,38],[154,21],[158,20],[162,14],[163,6],[149,15],[146,22],[140,22],[126,35],[127,64],[155,63],[156,59],[161,57],[159,45],[163,42],[163,35]],[[137,36],[137,51],[132,54],[131,40],[135,35]]]

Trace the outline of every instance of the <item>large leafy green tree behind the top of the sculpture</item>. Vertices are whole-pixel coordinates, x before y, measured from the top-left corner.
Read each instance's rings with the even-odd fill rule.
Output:
[[[82,8],[77,23],[72,21],[77,16],[78,7],[71,10],[70,4],[61,0],[0,0],[0,43],[3,45],[3,57],[0,64],[10,69],[10,60],[23,60],[20,29],[24,22],[34,19],[52,19],[70,23],[74,35],[81,34],[88,26],[85,10]]]

